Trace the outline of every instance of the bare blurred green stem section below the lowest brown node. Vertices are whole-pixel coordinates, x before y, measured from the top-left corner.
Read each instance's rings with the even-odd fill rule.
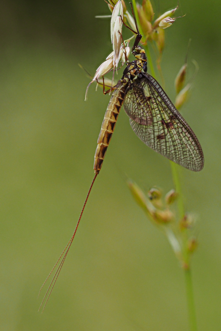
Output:
[[[192,275],[190,269],[184,269],[185,281],[186,281],[186,292],[187,292],[187,305],[189,311],[189,320],[190,320],[190,330],[197,331],[196,324],[196,313],[195,313],[195,305],[193,299],[193,283],[192,283]]]

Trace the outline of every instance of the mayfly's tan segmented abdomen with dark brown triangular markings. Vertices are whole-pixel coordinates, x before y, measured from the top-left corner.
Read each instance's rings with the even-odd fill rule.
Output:
[[[97,148],[94,156],[94,172],[99,173],[107,147],[114,132],[115,124],[124,101],[126,86],[119,86],[113,92],[110,102],[107,106],[104,120],[101,126],[100,134],[97,140]]]

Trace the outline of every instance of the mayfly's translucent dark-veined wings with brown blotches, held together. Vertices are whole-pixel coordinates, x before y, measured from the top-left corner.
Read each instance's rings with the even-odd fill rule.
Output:
[[[148,73],[142,73],[142,77],[131,85],[124,107],[137,136],[171,161],[200,171],[204,165],[200,143],[159,83]],[[135,98],[138,99],[136,105],[133,103]],[[151,119],[147,124],[142,123],[144,112]]]

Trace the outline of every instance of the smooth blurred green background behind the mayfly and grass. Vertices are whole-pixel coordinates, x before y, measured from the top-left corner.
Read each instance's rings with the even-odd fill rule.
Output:
[[[129,1],[127,1],[128,4]],[[156,14],[175,0],[155,1]],[[192,260],[198,328],[221,325],[221,3],[182,0],[166,29],[166,92],[184,63],[199,72],[182,114],[202,145],[200,173],[180,168],[185,210],[199,217]],[[38,291],[70,239],[94,176],[109,96],[92,74],[111,52],[102,0],[0,2],[0,329],[188,330],[183,271],[134,202],[124,173],[148,190],[173,188],[167,159],[146,147],[122,110],[82,223],[43,314]],[[125,36],[130,32],[124,30]],[[120,77],[120,76],[119,76]],[[43,291],[44,292],[44,291]]]

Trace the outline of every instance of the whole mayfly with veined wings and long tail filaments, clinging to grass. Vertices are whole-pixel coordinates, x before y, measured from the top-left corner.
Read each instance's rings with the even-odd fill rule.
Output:
[[[177,111],[156,79],[147,73],[145,51],[138,45],[142,35],[138,31],[137,24],[136,28],[137,32],[132,30],[137,34],[132,48],[132,54],[135,56],[135,60],[130,62],[127,59],[122,78],[109,91],[106,91],[107,93],[113,90],[113,94],[107,106],[97,141],[94,156],[95,176],[87,193],[74,234],[49,274],[50,276],[57,266],[55,275],[43,298],[41,306],[44,302],[44,307],[47,304],[48,298],[74,240],[91,188],[101,170],[123,104],[124,110],[130,118],[132,129],[147,146],[187,169],[200,171],[203,168],[203,152],[196,135]]]

